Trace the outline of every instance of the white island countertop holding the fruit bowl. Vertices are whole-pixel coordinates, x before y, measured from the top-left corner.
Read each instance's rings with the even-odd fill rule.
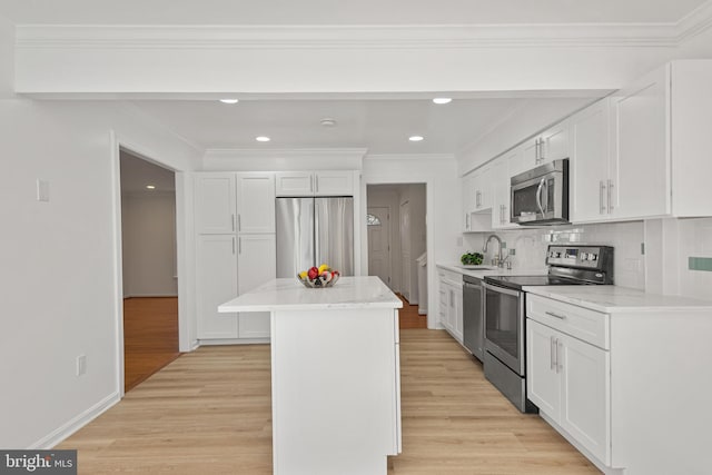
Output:
[[[403,301],[378,277],[358,276],[342,277],[327,288],[307,288],[296,278],[275,279],[220,305],[218,311],[402,307]]]

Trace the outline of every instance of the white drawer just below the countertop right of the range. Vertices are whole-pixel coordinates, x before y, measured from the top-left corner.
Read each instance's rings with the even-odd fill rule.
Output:
[[[609,314],[527,294],[526,316],[600,348],[611,348]]]

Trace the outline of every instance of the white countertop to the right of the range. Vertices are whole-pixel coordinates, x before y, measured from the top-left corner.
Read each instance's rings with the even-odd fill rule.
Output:
[[[712,300],[676,295],[647,294],[633,288],[610,285],[525,286],[531,294],[604,313],[623,311],[712,311]]]

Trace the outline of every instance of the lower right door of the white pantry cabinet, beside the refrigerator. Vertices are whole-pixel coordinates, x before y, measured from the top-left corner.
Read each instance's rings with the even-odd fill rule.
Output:
[[[236,295],[243,295],[277,277],[276,240],[274,234],[240,235],[237,239]],[[269,338],[269,311],[240,313],[238,335],[239,338]]]

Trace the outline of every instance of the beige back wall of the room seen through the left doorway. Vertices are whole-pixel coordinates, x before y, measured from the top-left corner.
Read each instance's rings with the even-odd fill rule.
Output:
[[[177,296],[176,194],[121,198],[123,297]]]

